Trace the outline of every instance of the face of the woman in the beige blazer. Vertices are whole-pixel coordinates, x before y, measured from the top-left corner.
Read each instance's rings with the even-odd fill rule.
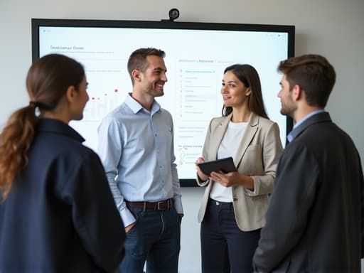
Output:
[[[247,104],[250,88],[245,87],[231,70],[225,73],[222,85],[221,94],[225,107],[242,107]]]

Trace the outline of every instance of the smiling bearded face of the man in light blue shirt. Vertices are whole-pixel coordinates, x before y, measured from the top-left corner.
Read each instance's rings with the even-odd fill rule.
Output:
[[[163,58],[156,55],[146,57],[149,65],[144,72],[140,72],[140,89],[151,97],[164,95],[164,84],[167,82],[166,65]]]

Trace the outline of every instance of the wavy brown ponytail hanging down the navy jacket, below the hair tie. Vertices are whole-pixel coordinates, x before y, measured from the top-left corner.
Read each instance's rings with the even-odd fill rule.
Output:
[[[0,200],[4,201],[13,186],[16,176],[28,164],[28,150],[34,139],[38,124],[36,104],[11,114],[0,134]]]

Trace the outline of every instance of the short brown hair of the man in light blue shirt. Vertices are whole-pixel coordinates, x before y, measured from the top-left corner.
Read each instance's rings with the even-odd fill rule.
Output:
[[[132,76],[132,71],[134,69],[140,70],[141,72],[144,72],[146,68],[148,67],[148,62],[146,61],[146,57],[150,55],[156,55],[161,58],[164,58],[166,56],[166,53],[164,53],[163,50],[156,49],[156,48],[139,48],[135,50],[132,55],[130,55],[128,60],[128,72],[130,75],[130,78],[132,79],[132,84],[134,85],[134,79]]]

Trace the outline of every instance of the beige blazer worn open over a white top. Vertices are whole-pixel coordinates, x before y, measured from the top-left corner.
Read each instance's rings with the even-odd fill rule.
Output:
[[[211,120],[203,146],[203,158],[215,160],[220,142],[223,140],[232,114]],[[252,113],[247,128],[240,140],[237,153],[232,155],[237,171],[254,180],[255,191],[243,186],[231,187],[235,219],[240,230],[249,231],[262,228],[268,208],[268,193],[273,191],[273,182],[282,143],[277,123]],[[215,181],[200,181],[198,186],[206,186],[203,202],[198,211],[198,222],[202,222],[210,191]]]

